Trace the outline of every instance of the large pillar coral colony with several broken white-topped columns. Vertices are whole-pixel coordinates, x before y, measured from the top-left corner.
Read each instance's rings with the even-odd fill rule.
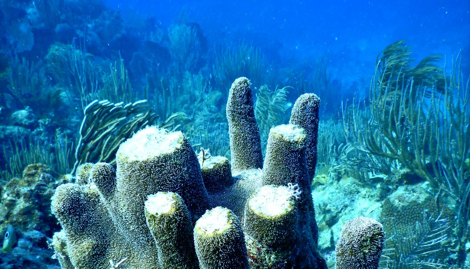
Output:
[[[208,150],[198,161],[184,134],[151,126],[119,146],[116,169],[78,169],[52,198],[63,268],[326,269],[310,184],[320,99],[299,100],[291,124],[271,129],[264,163],[250,81],[239,78],[227,102],[231,164]]]

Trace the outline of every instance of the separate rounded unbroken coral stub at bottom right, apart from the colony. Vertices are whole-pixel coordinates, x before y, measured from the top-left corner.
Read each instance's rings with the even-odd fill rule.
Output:
[[[336,244],[336,268],[377,269],[384,240],[384,227],[371,218],[346,222]]]

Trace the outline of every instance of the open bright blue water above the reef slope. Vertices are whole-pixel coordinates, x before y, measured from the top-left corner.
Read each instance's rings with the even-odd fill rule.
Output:
[[[415,57],[456,55],[470,46],[470,1],[111,1],[124,18],[155,17],[165,27],[181,14],[201,25],[211,44],[249,42],[275,63],[327,55],[344,84],[369,76],[376,55],[397,40]]]

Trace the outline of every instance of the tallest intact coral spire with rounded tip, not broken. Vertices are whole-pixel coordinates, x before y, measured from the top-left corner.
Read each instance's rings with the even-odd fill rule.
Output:
[[[259,127],[255,119],[250,80],[235,79],[227,101],[228,134],[232,169],[242,171],[263,166]]]

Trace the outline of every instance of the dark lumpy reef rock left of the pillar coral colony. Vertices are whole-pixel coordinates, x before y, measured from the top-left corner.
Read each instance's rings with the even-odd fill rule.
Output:
[[[0,230],[14,227],[17,243],[8,252],[0,252],[0,268],[60,268],[48,245],[49,238],[61,228],[49,204],[55,188],[70,181],[71,178],[56,174],[46,165],[31,164],[21,178],[12,178],[2,186]]]

